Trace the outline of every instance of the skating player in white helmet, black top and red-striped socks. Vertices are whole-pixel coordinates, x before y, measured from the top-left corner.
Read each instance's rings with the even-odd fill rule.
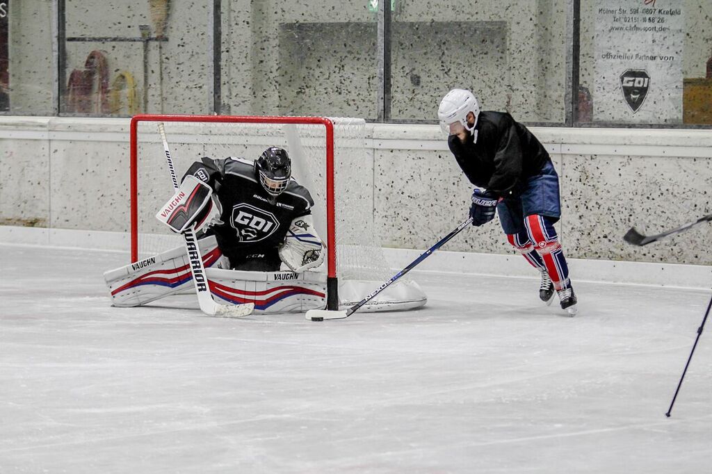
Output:
[[[470,216],[481,226],[498,211],[509,243],[541,273],[539,297],[575,315],[576,295],[554,224],[559,177],[539,140],[506,112],[480,111],[469,91],[453,89],[438,109],[450,151],[476,187]]]

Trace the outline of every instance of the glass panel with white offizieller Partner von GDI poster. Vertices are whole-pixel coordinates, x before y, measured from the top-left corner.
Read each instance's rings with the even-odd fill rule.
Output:
[[[579,122],[712,124],[712,2],[581,2]]]

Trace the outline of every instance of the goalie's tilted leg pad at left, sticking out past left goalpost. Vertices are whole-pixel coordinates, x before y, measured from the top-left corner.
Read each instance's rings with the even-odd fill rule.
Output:
[[[199,240],[198,245],[206,268],[221,264],[222,253],[214,236]],[[119,307],[140,306],[177,293],[194,293],[192,278],[185,246],[104,273],[112,305]]]

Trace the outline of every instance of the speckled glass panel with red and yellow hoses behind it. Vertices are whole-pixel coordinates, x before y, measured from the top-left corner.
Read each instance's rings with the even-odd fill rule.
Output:
[[[197,0],[65,0],[61,112],[208,112],[211,14]]]

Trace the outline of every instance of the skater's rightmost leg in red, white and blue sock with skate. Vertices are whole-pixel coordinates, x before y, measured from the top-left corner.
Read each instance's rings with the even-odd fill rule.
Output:
[[[559,295],[562,309],[570,315],[576,314],[576,295],[569,278],[569,268],[564,251],[559,242],[552,219],[547,216],[533,214],[524,219],[530,240],[534,243],[537,253],[541,256],[546,270]]]

